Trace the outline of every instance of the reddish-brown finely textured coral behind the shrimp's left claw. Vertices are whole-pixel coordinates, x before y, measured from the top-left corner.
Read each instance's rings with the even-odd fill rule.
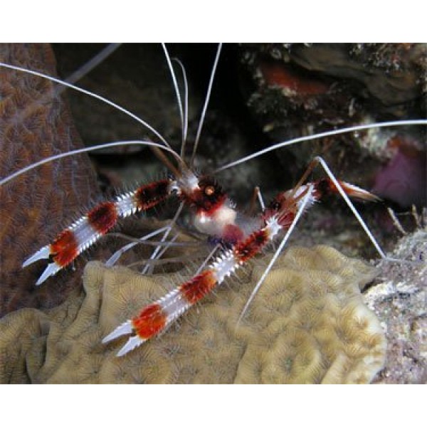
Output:
[[[2,62],[55,75],[48,45],[1,44]],[[59,152],[83,147],[66,102],[48,80],[0,69],[0,176]],[[0,187],[0,317],[22,307],[53,307],[80,285],[78,275],[56,288],[34,288],[40,266],[29,253],[46,244],[75,209],[99,194],[84,155],[44,164]]]

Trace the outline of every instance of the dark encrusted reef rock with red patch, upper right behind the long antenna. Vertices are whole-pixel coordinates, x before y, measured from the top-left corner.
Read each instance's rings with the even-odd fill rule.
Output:
[[[243,97],[265,135],[272,142],[352,125],[426,117],[427,49],[423,43],[269,43],[241,46]],[[401,139],[400,156],[393,140]],[[423,206],[425,170],[414,172],[408,157],[421,151],[425,158],[423,127],[371,129],[295,144],[275,154],[289,173],[305,170],[316,155],[332,171],[370,188],[376,182],[379,196],[402,207]],[[293,160],[292,160],[292,157]],[[404,161],[406,162],[404,162]],[[406,163],[409,163],[406,165]],[[420,176],[424,172],[424,178]],[[387,176],[387,175],[392,175]],[[396,176],[404,175],[402,195]],[[393,181],[394,179],[394,181]],[[424,183],[424,186],[422,184]],[[387,186],[393,186],[394,191]],[[421,199],[421,200],[420,200]]]

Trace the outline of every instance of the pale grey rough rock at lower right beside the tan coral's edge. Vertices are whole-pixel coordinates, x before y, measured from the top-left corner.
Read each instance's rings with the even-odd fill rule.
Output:
[[[427,229],[401,238],[379,263],[379,283],[364,294],[387,338],[386,366],[375,383],[427,383]],[[399,261],[401,260],[401,261]]]

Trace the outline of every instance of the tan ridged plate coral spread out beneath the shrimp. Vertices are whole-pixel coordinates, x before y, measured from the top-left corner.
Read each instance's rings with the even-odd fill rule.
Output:
[[[261,261],[157,339],[125,357],[101,339],[172,287],[176,274],[138,275],[88,263],[85,292],[60,307],[0,322],[3,383],[367,383],[386,342],[359,287],[373,269],[332,248],[290,248],[238,316]],[[53,284],[51,284],[53,285]]]

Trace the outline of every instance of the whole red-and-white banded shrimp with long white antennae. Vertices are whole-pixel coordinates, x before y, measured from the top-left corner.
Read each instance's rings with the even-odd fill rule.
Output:
[[[165,47],[164,50],[167,53]],[[218,60],[219,52],[220,49],[218,49],[216,60]],[[169,55],[167,54],[166,57],[174,78],[174,71],[172,65],[170,65],[171,60],[169,59]],[[214,65],[211,80],[213,80],[215,67],[216,65]],[[40,75],[40,73],[38,73],[38,75]],[[47,78],[44,75],[41,75],[41,77]],[[60,83],[58,80],[54,80]],[[68,83],[66,85],[70,86]],[[216,253],[206,260],[206,267],[200,268],[198,273],[179,284],[170,292],[167,292],[167,294],[159,298],[159,300],[150,302],[145,307],[142,307],[139,314],[135,315],[135,317],[132,317],[130,320],[126,320],[102,340],[102,342],[107,343],[123,335],[130,335],[125,346],[117,353],[118,356],[123,356],[132,349],[135,349],[135,347],[146,342],[148,339],[162,334],[176,321],[176,319],[181,317],[181,315],[193,305],[200,302],[206,295],[209,295],[239,268],[246,265],[246,263],[252,260],[256,255],[270,246],[271,243],[277,243],[281,238],[280,245],[272,260],[273,263],[275,257],[277,258],[278,253],[280,253],[285,246],[290,233],[292,233],[292,230],[295,228],[302,214],[312,206],[315,206],[317,202],[322,201],[328,194],[341,194],[344,199],[347,198],[347,204],[349,204],[355,215],[357,215],[357,213],[354,207],[352,207],[351,202],[348,201],[347,196],[363,201],[379,200],[369,191],[361,189],[354,184],[335,179],[322,162],[322,159],[315,159],[315,161],[310,163],[307,172],[292,189],[280,191],[270,204],[263,208],[258,215],[249,216],[248,214],[244,214],[237,209],[236,204],[228,197],[226,191],[223,190],[223,187],[218,184],[213,176],[196,174],[196,172],[194,172],[193,160],[199,142],[204,112],[202,113],[199,130],[196,135],[193,155],[189,161],[184,159],[186,127],[188,125],[184,117],[188,114],[188,107],[186,105],[184,105],[184,107],[181,105],[182,97],[179,95],[179,88],[176,83],[175,88],[179,100],[183,127],[180,154],[172,149],[166,139],[164,139],[162,135],[159,135],[159,132],[154,131],[152,127],[149,127],[143,120],[139,120],[139,122],[152,130],[154,135],[160,139],[160,142],[132,141],[102,144],[102,147],[113,146],[115,144],[142,144],[145,147],[156,149],[157,152],[162,153],[159,157],[169,168],[170,174],[167,179],[159,179],[140,185],[131,191],[118,194],[111,200],[102,201],[100,204],[90,209],[86,214],[78,218],[77,221],[74,221],[70,226],[60,231],[56,238],[53,238],[51,243],[43,246],[36,251],[36,253],[33,253],[33,255],[23,261],[23,268],[39,260],[48,261],[46,269],[36,281],[36,285],[41,285],[41,283],[44,283],[48,278],[56,275],[60,270],[70,265],[73,260],[90,248],[90,246],[93,246],[96,241],[99,241],[103,236],[112,231],[121,218],[127,218],[153,209],[168,199],[177,199],[183,206],[186,206],[186,209],[191,213],[191,222],[194,228],[200,233],[208,236],[211,240],[221,244],[218,245]],[[206,96],[204,111],[206,110],[207,101],[209,100],[209,90]],[[108,103],[111,105],[111,102]],[[121,111],[123,110],[124,109],[121,109]],[[408,123],[409,121],[406,122],[406,124]],[[427,121],[417,122],[414,120],[412,124],[419,125],[421,123],[425,125]],[[396,125],[396,123],[382,125],[390,126]],[[330,132],[324,132],[320,136],[330,137],[338,133],[354,132],[354,130],[362,129],[369,129],[369,125],[359,125],[358,127],[348,128],[346,130],[332,130]],[[268,147],[268,149],[260,150],[260,152],[238,159],[236,162],[226,164],[215,172],[221,172],[221,170],[251,160],[273,149],[278,149],[302,140],[315,139],[315,137],[319,137],[319,135],[300,137],[288,142],[273,144],[271,147]],[[79,152],[98,148],[100,148],[100,146],[82,149]],[[75,153],[68,152],[60,154],[60,156],[72,154]],[[46,159],[46,162],[55,160],[60,156],[52,156]],[[315,165],[319,163],[324,167],[328,177],[318,179],[317,181],[307,181],[308,174],[310,174]],[[1,183],[5,183],[9,178],[10,177],[6,177]],[[167,249],[167,244],[170,243],[167,234],[172,229],[172,225],[174,221],[176,221],[176,217],[179,216],[179,212],[179,210],[176,212],[174,220],[169,223],[167,231],[164,232],[161,243],[166,245],[165,249]],[[364,226],[363,221],[359,219],[359,222]],[[366,226],[364,226],[364,228],[365,231],[367,231]],[[369,231],[367,231],[367,233],[371,240],[373,240]],[[132,247],[133,244],[134,243],[131,243],[129,247]],[[156,259],[161,255],[159,255],[161,248],[161,245],[156,248],[156,251],[154,251],[152,255],[152,259]],[[380,255],[384,256],[384,253],[382,253],[378,245],[376,245],[376,248]],[[268,273],[271,265],[272,264],[265,270],[265,275]],[[265,277],[265,275],[263,277]],[[261,278],[260,283],[262,283],[262,280],[263,278]],[[255,287],[253,295],[255,295],[260,283]],[[46,285],[48,285],[48,283]]]

